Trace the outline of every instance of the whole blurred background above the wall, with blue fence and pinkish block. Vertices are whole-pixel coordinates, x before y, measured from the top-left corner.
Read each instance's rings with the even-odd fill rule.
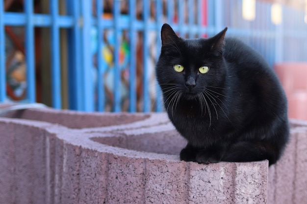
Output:
[[[0,0],[0,103],[161,112],[163,23],[184,38],[227,26],[276,70],[289,115],[307,119],[307,0]]]

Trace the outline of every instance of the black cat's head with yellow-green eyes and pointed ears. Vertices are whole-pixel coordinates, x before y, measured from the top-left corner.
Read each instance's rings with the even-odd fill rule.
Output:
[[[207,87],[223,86],[226,77],[223,59],[226,30],[207,39],[182,39],[170,25],[162,26],[162,47],[156,76],[164,96],[177,91],[181,97],[193,99]]]

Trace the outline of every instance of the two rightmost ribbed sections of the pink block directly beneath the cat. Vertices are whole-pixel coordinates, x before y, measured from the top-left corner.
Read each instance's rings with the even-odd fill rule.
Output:
[[[262,163],[261,163],[262,162]],[[267,202],[267,161],[198,165],[191,163],[192,203],[263,204]]]

